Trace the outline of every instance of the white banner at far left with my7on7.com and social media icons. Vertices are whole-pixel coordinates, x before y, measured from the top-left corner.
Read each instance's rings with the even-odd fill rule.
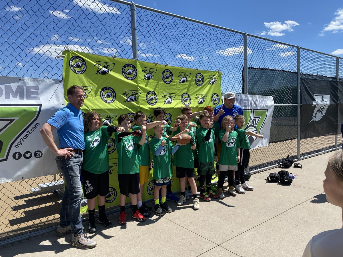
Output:
[[[57,173],[39,129],[62,107],[61,80],[0,76],[0,183]]]

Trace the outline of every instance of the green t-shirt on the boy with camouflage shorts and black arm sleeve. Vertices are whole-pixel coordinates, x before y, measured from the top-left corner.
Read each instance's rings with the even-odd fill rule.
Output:
[[[214,132],[211,130],[209,141],[204,137],[209,129],[200,127],[197,129],[198,162],[214,162]]]

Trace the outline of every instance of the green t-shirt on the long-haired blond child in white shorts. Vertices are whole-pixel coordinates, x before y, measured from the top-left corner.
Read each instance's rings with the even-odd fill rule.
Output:
[[[223,142],[223,136],[225,130],[219,132],[219,139],[222,142],[222,148],[220,157],[218,160],[219,164],[222,165],[237,165],[237,148],[240,147],[239,139],[236,131],[229,132],[229,136],[226,142]]]

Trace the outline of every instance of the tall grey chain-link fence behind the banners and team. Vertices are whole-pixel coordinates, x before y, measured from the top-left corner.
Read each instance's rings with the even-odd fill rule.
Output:
[[[3,0],[0,8],[1,76],[61,79],[62,61],[56,57],[66,46],[104,56],[116,54],[120,58],[220,70],[223,93],[244,92],[242,74],[246,68],[248,90],[244,93],[272,95],[276,104],[271,128],[274,143],[251,151],[251,170],[271,167],[287,155],[297,156],[299,151],[306,157],[342,145],[342,136],[333,135],[302,139],[300,149],[297,147],[296,80],[283,79],[275,87],[267,77],[263,88],[249,88],[249,81],[254,79],[249,77],[252,69],[268,69],[271,75],[279,71],[297,73],[296,46],[120,0]],[[133,27],[135,24],[137,27]],[[343,60],[339,59],[336,74],[336,57],[301,48],[300,72],[343,80]],[[287,133],[291,140],[278,140],[280,133]],[[58,175],[51,175],[0,184],[0,245],[57,224],[59,195],[51,191],[32,194],[31,190],[57,180],[61,180]]]

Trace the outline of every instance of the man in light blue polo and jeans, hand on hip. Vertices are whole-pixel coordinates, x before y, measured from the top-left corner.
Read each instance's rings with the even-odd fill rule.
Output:
[[[80,108],[83,106],[83,88],[71,86],[67,90],[69,103],[59,109],[40,129],[46,145],[57,155],[56,163],[65,182],[61,201],[60,224],[56,234],[71,234],[70,244],[82,249],[95,247],[96,242],[88,238],[83,230],[80,216],[82,186],[80,174],[82,152],[85,149],[83,137],[83,117]],[[59,147],[54,142],[52,131],[57,129]]]

